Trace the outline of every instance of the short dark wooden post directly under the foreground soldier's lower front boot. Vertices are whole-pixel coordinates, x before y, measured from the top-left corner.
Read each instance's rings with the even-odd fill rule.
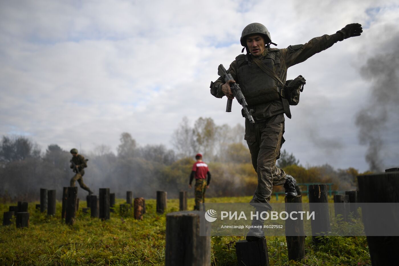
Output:
[[[266,238],[258,241],[239,240],[235,244],[235,253],[239,266],[269,266]]]

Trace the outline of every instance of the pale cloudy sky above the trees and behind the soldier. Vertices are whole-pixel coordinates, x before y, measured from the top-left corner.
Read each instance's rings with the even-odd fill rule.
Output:
[[[126,131],[172,148],[183,116],[244,125],[209,83],[252,22],[277,48],[362,24],[360,37],[288,70],[307,83],[284,148],[304,166],[366,171],[370,156],[399,166],[397,1],[1,1],[0,135],[90,151],[115,149]]]

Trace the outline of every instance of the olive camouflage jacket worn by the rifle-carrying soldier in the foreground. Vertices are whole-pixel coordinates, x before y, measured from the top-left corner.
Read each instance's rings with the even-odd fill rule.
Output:
[[[278,55],[276,58],[278,58],[279,60],[278,61],[275,60],[274,62],[275,73],[282,80],[282,82],[285,82],[287,77],[288,67],[304,62],[306,59],[310,58],[314,54],[317,54],[323,50],[326,50],[327,48],[330,48],[333,44],[335,44],[339,40],[342,40],[342,35],[339,33],[335,33],[332,35],[323,35],[320,37],[313,38],[306,44],[298,44],[293,46],[290,45],[284,49],[268,48],[265,50],[265,52],[263,52],[263,54],[261,54],[258,57],[258,59],[262,60],[263,58],[265,58],[265,56],[267,56],[269,52],[277,52]],[[249,55],[241,54],[237,56],[237,58],[230,64],[229,69],[227,69],[227,73],[230,73],[233,76],[233,79],[238,84],[240,84],[241,78],[239,75],[237,76],[238,72],[237,70],[239,67],[237,66],[237,62],[242,63],[243,60],[246,60],[247,62],[244,62],[244,64],[251,64],[252,62],[251,58],[252,58],[251,54]],[[211,83],[211,94],[217,98],[225,96],[221,90],[221,86],[224,83],[225,82],[222,77],[219,77],[215,82]],[[281,99],[277,99],[274,101],[267,101],[265,103],[258,104],[251,108],[254,109],[254,113],[252,116],[255,119],[255,121],[263,121],[273,115],[284,113],[284,108]]]

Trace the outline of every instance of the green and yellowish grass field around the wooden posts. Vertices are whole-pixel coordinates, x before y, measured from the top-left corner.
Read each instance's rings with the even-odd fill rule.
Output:
[[[208,202],[249,202],[251,197],[211,198]],[[304,197],[304,201],[307,197]],[[275,200],[275,197],[273,197]],[[282,202],[283,197],[279,197]],[[116,206],[124,200],[117,200]],[[111,219],[90,218],[79,210],[73,226],[61,223],[61,203],[57,214],[48,217],[29,203],[29,228],[15,223],[0,227],[0,265],[164,265],[166,214],[156,214],[154,199],[146,200],[144,220],[121,217],[116,208]],[[80,208],[85,207],[81,201]],[[0,213],[8,206],[0,204]],[[194,199],[188,200],[191,209]],[[167,212],[178,211],[178,199],[169,199]],[[243,237],[211,238],[211,264],[237,265],[234,242]],[[371,265],[365,237],[327,237],[322,245],[306,241],[306,257],[288,261],[285,237],[267,237],[270,265]]]

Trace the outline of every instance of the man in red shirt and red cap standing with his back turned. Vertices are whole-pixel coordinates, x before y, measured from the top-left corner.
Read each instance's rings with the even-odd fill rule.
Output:
[[[194,177],[196,178],[196,185],[194,187],[194,196],[196,206],[194,210],[199,210],[199,203],[205,202],[205,191],[209,188],[209,182],[211,182],[211,173],[209,173],[208,165],[202,161],[201,153],[196,155],[196,162],[193,165],[193,169],[190,175],[190,184],[188,187],[191,189],[191,183]],[[208,179],[206,179],[208,177]]]

